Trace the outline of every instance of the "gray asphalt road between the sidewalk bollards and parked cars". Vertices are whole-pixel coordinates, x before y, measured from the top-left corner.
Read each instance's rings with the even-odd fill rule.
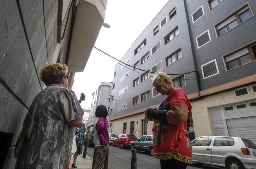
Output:
[[[87,147],[87,155],[93,158],[94,147]],[[109,146],[109,169],[131,169],[131,150],[129,148]],[[160,160],[143,151],[137,151],[137,169],[160,169]],[[187,169],[223,169],[196,164],[189,165]]]

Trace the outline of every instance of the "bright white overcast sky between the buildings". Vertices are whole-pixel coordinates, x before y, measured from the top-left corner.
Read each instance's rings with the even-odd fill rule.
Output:
[[[168,0],[108,0],[104,22],[111,25],[111,28],[101,28],[94,46],[121,59],[167,2]],[[92,93],[101,82],[113,81],[116,64],[105,54],[92,49],[85,70],[76,73],[72,87],[78,98],[81,92],[86,95],[85,101],[81,103],[82,108],[90,107]]]

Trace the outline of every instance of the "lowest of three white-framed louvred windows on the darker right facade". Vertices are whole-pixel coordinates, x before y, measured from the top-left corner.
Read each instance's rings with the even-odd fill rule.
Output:
[[[219,74],[219,69],[217,65],[216,59],[209,61],[205,63],[204,65],[201,66],[202,74],[203,74],[203,79],[206,79],[208,77],[215,76]]]

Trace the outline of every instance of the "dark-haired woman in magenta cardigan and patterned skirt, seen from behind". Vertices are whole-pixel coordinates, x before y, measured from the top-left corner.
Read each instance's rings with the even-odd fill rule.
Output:
[[[94,152],[92,169],[107,169],[109,156],[109,115],[104,105],[99,105],[95,111],[95,117],[99,120],[94,127]]]

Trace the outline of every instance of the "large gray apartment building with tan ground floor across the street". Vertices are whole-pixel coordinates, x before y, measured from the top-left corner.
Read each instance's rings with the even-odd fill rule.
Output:
[[[115,66],[112,133],[152,134],[143,111],[166,97],[151,86],[163,71],[186,91],[196,137],[256,142],[254,13],[255,0],[169,0]]]

